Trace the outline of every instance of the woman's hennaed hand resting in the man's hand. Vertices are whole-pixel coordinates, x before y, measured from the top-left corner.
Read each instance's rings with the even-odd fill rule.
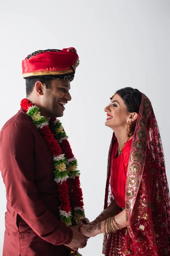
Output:
[[[102,233],[102,223],[96,225],[82,225],[79,231],[83,236],[94,237]]]

